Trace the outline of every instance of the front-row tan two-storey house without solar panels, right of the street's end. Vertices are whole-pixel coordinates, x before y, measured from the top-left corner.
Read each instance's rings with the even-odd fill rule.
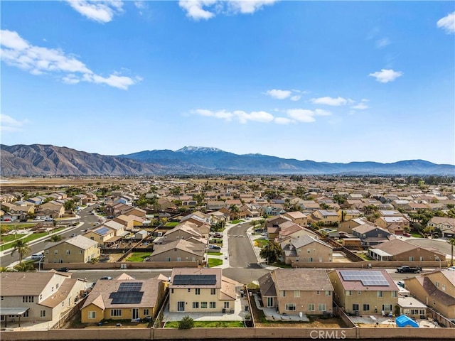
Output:
[[[258,282],[264,306],[280,314],[332,313],[333,286],[324,269],[275,269]]]

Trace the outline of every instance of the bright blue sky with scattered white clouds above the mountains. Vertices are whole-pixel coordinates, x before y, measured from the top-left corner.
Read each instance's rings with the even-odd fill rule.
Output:
[[[454,1],[1,1],[1,143],[455,164]]]

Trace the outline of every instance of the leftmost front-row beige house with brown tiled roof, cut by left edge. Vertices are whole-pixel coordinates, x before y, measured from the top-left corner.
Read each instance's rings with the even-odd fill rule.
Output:
[[[52,321],[73,308],[86,286],[86,281],[56,271],[2,272],[1,323]]]

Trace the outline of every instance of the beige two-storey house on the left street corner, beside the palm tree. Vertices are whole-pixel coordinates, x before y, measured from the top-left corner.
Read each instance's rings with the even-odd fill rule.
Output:
[[[44,249],[45,263],[89,263],[100,257],[95,240],[82,235],[64,239]]]

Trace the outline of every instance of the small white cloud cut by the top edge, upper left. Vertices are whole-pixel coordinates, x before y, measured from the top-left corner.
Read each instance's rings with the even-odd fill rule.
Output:
[[[112,21],[115,14],[122,13],[122,0],[66,0],[75,11],[99,23]]]

